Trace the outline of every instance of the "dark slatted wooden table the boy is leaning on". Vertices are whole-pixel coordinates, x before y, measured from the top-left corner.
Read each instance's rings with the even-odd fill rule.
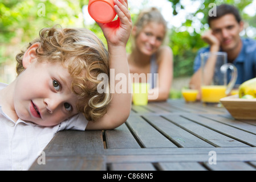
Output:
[[[168,100],[132,106],[123,125],[60,131],[30,170],[255,170],[256,121],[224,107]]]

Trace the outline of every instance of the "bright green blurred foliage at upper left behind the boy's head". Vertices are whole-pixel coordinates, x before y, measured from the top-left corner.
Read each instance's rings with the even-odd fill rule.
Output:
[[[14,64],[19,50],[36,38],[43,27],[83,27],[84,4],[88,0],[0,0],[1,69]],[[1,75],[5,74],[2,70]]]

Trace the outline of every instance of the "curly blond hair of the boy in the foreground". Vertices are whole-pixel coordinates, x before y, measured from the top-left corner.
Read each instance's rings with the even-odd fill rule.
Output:
[[[54,26],[43,28],[39,36],[27,48],[34,43],[40,43],[36,49],[38,61],[62,63],[73,78],[71,90],[79,97],[79,113],[83,113],[88,121],[102,117],[111,100],[109,90],[104,93],[97,92],[97,85],[101,82],[97,80],[97,76],[105,73],[109,77],[109,56],[104,44],[85,28]],[[25,69],[22,65],[24,53],[22,51],[16,56],[18,75]]]

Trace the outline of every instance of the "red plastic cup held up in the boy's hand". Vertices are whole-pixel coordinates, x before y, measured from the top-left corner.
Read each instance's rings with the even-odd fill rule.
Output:
[[[88,13],[96,21],[100,23],[109,23],[115,16],[113,0],[89,0]]]

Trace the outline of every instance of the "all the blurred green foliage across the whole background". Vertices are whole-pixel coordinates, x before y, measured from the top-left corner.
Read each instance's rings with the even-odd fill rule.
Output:
[[[132,2],[136,0],[128,0]],[[144,3],[150,3],[156,0],[145,0]],[[167,1],[167,0],[166,0]],[[184,9],[182,1],[168,0],[172,3],[173,12],[177,15]],[[199,48],[206,46],[201,40],[200,34],[207,28],[206,17],[210,9],[210,3],[219,5],[229,3],[237,6],[241,10],[243,19],[252,27],[256,27],[255,17],[249,16],[242,11],[251,0],[191,0],[200,1],[201,7],[195,13],[188,14],[186,22],[182,27],[170,28],[168,33],[168,45],[172,48],[174,54],[174,77],[191,76],[193,74],[193,60]],[[43,27],[50,27],[60,24],[62,27],[86,27],[95,32],[97,36],[105,43],[104,36],[96,23],[87,25],[84,23],[83,6],[88,5],[88,0],[0,0],[0,68],[4,65],[15,64],[15,55],[20,49],[24,49],[32,39],[38,36],[38,32]],[[136,14],[132,9],[132,19],[136,19]],[[200,14],[204,14],[203,18]],[[200,21],[200,30],[194,27],[194,21]],[[256,32],[256,31],[255,31]],[[247,36],[245,31],[244,36]],[[255,39],[255,34],[252,35]],[[128,43],[127,52],[131,49],[131,43]],[[2,72],[1,72],[2,73]],[[0,75],[1,76],[1,75]],[[0,81],[3,79],[1,78]]]

